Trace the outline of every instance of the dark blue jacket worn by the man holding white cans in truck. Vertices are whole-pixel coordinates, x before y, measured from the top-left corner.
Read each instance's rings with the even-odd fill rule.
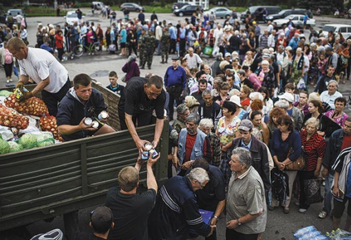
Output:
[[[102,110],[106,109],[103,95],[95,88],[92,88],[92,95],[90,95],[89,100],[82,104],[72,87],[58,104],[57,125],[79,125],[84,117],[97,117]],[[65,141],[70,141],[82,139],[89,133],[92,132],[78,131],[73,134],[62,135],[62,137]]]

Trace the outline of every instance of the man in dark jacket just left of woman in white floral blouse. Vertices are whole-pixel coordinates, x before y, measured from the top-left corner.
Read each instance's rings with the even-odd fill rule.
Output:
[[[199,106],[200,119],[212,119],[213,124],[217,126],[218,121],[222,117],[222,108],[220,104],[213,101],[211,91],[205,90],[202,92],[202,103]]]

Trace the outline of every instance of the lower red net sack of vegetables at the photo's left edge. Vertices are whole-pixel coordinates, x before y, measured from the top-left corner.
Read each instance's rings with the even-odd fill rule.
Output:
[[[0,104],[0,125],[9,128],[25,129],[28,128],[29,119],[20,113],[6,108]]]

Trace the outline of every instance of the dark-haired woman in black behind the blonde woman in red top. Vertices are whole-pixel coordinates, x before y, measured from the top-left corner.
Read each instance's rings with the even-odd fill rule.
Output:
[[[310,100],[308,102],[308,111],[310,113],[308,113],[308,115],[305,116],[304,123],[306,123],[306,121],[311,117],[318,119],[319,120],[319,127],[317,128],[318,134],[329,138],[335,130],[340,129],[340,126],[337,125],[337,123],[334,123],[334,121],[332,121],[328,117],[324,116],[322,114],[323,110],[324,108],[321,104],[321,101]]]

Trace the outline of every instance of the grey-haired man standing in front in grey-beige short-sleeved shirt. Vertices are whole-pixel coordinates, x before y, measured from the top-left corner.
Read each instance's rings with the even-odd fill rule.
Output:
[[[251,153],[243,147],[232,152],[229,165],[233,173],[226,198],[226,239],[257,239],[266,229],[264,184],[251,166],[251,159]]]

